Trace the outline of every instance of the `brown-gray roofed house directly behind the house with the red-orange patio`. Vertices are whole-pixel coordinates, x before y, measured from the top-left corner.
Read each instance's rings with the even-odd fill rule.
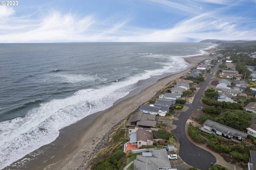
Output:
[[[143,128],[156,127],[156,115],[150,115],[143,113],[143,111],[137,111],[130,116],[126,126]]]

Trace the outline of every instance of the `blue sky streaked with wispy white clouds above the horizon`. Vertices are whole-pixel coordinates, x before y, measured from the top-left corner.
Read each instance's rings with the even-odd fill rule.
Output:
[[[0,6],[0,43],[205,39],[256,40],[256,0],[18,0]]]

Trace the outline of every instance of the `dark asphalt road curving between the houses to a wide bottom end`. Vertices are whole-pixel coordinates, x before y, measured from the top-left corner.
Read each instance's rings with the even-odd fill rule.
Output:
[[[213,73],[220,63],[221,61],[212,69]],[[196,93],[193,103],[190,104],[188,111],[181,113],[178,120],[173,121],[173,125],[176,125],[177,127],[175,130],[172,130],[172,133],[176,135],[177,140],[180,142],[180,158],[190,166],[200,170],[208,170],[211,166],[211,162],[216,162],[216,158],[210,152],[199,148],[188,140],[185,134],[185,125],[191,114],[197,109],[201,109],[202,105],[200,104],[200,99],[206,86],[210,83],[211,77],[212,75],[209,74],[205,82],[200,85],[200,89]]]

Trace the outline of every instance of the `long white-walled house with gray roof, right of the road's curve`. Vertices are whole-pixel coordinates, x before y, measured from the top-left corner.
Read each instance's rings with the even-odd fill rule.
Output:
[[[222,125],[209,119],[203,123],[201,130],[209,134],[220,135],[224,138],[231,139],[232,141],[236,141],[234,139],[245,140],[248,135],[245,132]]]

